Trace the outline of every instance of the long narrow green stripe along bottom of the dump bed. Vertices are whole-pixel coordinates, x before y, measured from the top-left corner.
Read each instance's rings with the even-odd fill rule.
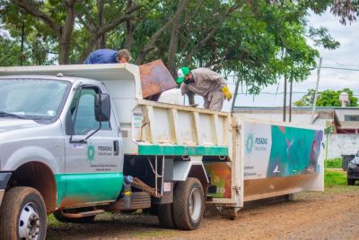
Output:
[[[228,156],[228,147],[188,147],[163,145],[138,145],[138,155],[167,155],[167,156]]]

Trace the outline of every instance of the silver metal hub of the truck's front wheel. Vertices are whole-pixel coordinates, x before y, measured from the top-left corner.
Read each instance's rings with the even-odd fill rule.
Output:
[[[28,203],[20,214],[19,236],[26,240],[39,239],[40,228],[39,210],[35,203]]]

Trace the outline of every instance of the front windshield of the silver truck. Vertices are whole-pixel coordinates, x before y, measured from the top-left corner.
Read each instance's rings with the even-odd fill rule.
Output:
[[[68,81],[57,80],[0,80],[0,117],[53,119],[70,86]]]

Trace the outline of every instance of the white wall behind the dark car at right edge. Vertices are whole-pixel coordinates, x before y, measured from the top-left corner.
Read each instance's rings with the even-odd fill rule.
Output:
[[[341,155],[356,154],[359,150],[359,134],[330,134],[328,136],[328,159]]]

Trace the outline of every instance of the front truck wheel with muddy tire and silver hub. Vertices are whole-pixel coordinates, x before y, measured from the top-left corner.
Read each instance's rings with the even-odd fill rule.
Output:
[[[45,239],[46,207],[31,187],[13,187],[4,194],[0,209],[0,239]]]

